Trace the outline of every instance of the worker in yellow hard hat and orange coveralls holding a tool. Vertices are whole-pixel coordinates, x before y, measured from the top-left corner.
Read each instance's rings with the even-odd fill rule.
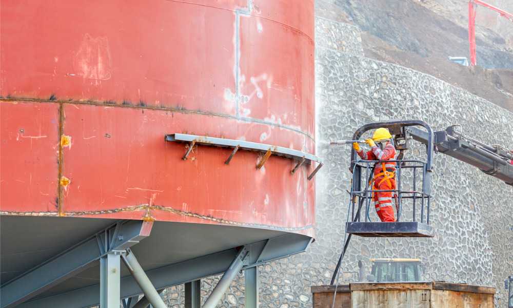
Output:
[[[392,138],[386,128],[378,128],[372,134],[372,139],[366,139],[365,142],[371,147],[371,150],[364,152],[360,149],[358,143],[353,143],[353,148],[364,160],[394,160],[396,159],[396,148],[390,142]],[[378,145],[376,145],[378,144]],[[374,185],[372,190],[393,190],[396,189],[396,163],[377,162],[374,167]],[[392,192],[380,191],[372,195],[376,213],[383,222],[394,222],[393,216]]]

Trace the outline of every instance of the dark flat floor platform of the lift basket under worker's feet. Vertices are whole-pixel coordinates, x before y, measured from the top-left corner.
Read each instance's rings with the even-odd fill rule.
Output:
[[[413,222],[348,222],[347,233],[361,237],[433,237],[435,228]]]

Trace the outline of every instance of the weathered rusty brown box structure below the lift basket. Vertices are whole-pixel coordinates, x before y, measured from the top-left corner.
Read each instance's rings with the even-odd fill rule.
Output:
[[[357,282],[312,286],[313,308],[494,308],[495,287],[461,283]]]

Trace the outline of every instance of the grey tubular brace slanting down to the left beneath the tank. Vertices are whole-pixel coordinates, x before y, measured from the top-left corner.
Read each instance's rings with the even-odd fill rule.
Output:
[[[244,246],[236,255],[235,260],[233,260],[230,267],[226,269],[226,272],[224,273],[223,277],[221,277],[218,284],[214,287],[212,293],[210,293],[210,296],[205,301],[203,308],[214,308],[217,306],[217,304],[223,297],[223,294],[225,294],[233,279],[237,277],[239,271],[242,269],[244,265],[246,265],[248,257],[249,249],[246,246]]]

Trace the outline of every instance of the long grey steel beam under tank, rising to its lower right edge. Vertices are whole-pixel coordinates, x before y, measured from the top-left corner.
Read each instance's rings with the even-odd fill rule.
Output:
[[[240,269],[252,268],[271,260],[303,252],[311,241],[312,238],[310,237],[289,233],[247,244],[244,247],[231,248],[192,260],[155,268],[146,271],[145,274],[154,288],[161,290],[172,285],[221,274],[232,265],[243,249],[247,251],[247,254],[244,258],[243,266],[240,266],[241,262],[238,262],[234,267],[238,269],[236,272],[239,272]],[[231,271],[230,277],[233,274],[236,273]],[[82,308],[94,306],[99,303],[98,294],[100,294],[100,289],[101,285],[95,284],[61,294],[26,301],[19,304],[18,307]],[[137,284],[133,276],[122,277],[120,279],[120,289],[119,298],[128,298],[142,293],[139,284]]]

